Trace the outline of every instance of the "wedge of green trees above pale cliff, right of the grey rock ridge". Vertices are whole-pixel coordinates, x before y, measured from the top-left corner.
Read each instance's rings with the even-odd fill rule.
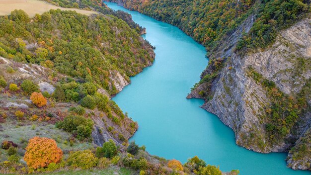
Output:
[[[262,0],[257,19],[249,33],[238,42],[237,50],[268,46],[280,29],[291,26],[309,10],[307,0]]]

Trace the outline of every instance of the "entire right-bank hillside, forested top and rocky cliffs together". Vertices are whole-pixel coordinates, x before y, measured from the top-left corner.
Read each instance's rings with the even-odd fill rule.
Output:
[[[310,1],[110,1],[176,25],[206,46],[209,66],[188,98],[205,99],[202,107],[234,130],[238,145],[291,150],[289,167],[311,169],[310,144],[306,154],[295,153],[311,123]]]

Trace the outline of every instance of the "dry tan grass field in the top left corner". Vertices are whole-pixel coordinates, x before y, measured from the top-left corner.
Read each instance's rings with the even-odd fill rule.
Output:
[[[81,10],[77,8],[64,8],[52,5],[41,0],[0,0],[0,15],[8,15],[14,9],[24,10],[29,17],[33,17],[36,13],[42,14],[50,9],[74,10],[81,14],[94,14],[95,11]]]

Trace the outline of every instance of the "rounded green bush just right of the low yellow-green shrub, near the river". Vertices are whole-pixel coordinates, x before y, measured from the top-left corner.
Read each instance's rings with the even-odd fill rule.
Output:
[[[101,158],[112,158],[117,155],[117,146],[110,139],[108,142],[105,142],[102,147],[97,147],[95,152],[96,157]]]

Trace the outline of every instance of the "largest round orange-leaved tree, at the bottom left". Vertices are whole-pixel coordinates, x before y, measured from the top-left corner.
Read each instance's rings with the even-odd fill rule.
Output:
[[[55,140],[46,137],[34,137],[29,140],[24,160],[29,168],[47,167],[51,163],[59,163],[63,152],[57,147]]]

